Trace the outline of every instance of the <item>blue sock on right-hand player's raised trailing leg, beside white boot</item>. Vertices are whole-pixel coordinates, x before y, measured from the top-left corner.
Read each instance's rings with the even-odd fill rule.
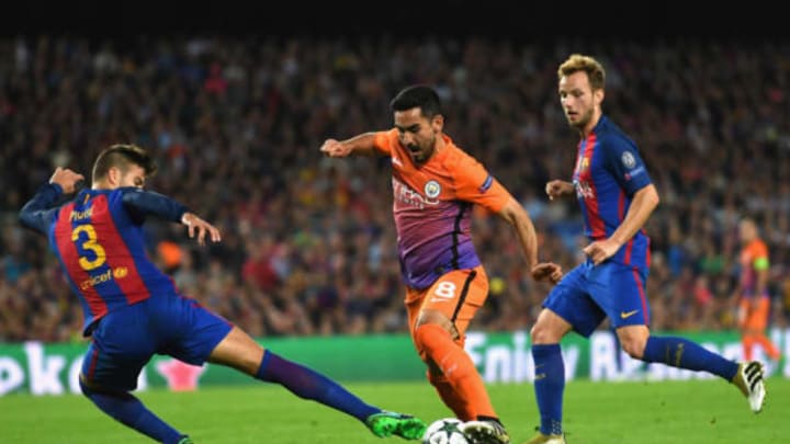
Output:
[[[706,371],[732,380],[737,373],[737,363],[709,352],[701,345],[677,337],[647,338],[642,356],[645,362],[661,362],[673,367]]]

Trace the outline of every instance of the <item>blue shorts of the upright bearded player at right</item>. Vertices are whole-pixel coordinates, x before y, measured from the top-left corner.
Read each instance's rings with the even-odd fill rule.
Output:
[[[588,338],[606,317],[613,328],[650,325],[647,271],[607,261],[571,270],[549,293],[543,307]]]

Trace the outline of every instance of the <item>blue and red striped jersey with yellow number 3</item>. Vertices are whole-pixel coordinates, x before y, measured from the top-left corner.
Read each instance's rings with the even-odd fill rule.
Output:
[[[108,312],[176,286],[148,258],[146,215],[178,221],[187,208],[161,194],[136,187],[83,190],[58,208],[58,185],[42,187],[20,213],[23,225],[48,235],[71,289],[78,295],[83,334]]]

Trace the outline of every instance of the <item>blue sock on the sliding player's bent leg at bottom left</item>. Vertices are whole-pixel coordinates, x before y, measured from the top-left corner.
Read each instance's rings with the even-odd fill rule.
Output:
[[[104,413],[160,443],[176,444],[184,435],[146,409],[139,399],[128,392],[104,394],[92,391],[80,382],[82,392]]]

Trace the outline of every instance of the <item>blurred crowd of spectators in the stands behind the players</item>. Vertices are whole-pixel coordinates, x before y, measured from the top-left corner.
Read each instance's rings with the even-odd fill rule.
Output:
[[[57,166],[90,174],[115,143],[150,149],[148,187],[215,223],[192,242],[149,220],[151,258],[182,293],[253,335],[406,331],[386,159],[323,158],[326,138],[392,126],[403,87],[440,92],[445,132],[524,205],[540,257],[572,269],[586,240],[568,179],[578,136],[556,68],[607,69],[605,113],[637,143],[662,203],[650,219],[652,328],[732,329],[737,221],[760,227],[772,325],[790,309],[790,45],[692,38],[157,37],[0,39],[0,342],[78,341],[77,298],[18,212]],[[473,329],[528,329],[549,286],[509,226],[475,214],[492,283]],[[602,326],[605,328],[606,326]]]

